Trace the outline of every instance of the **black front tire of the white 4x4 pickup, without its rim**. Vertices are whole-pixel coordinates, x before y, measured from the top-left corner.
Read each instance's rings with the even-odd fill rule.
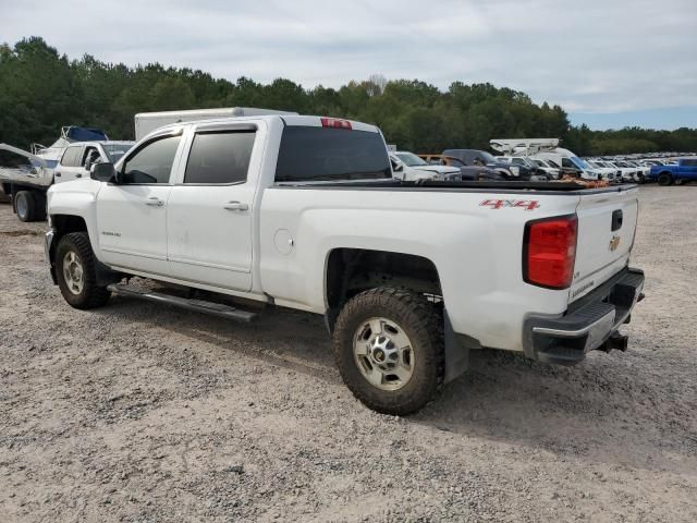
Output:
[[[76,256],[80,262],[82,287],[71,285],[65,273],[66,256]],[[65,301],[75,308],[87,309],[105,305],[111,293],[105,287],[97,285],[97,258],[89,244],[86,232],[71,232],[58,242],[56,247],[56,276],[58,287]]]

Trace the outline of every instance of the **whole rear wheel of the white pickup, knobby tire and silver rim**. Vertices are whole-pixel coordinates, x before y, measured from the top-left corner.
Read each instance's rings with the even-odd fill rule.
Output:
[[[442,387],[441,315],[415,292],[378,288],[354,296],[337,319],[333,344],[344,382],[375,411],[414,413]]]

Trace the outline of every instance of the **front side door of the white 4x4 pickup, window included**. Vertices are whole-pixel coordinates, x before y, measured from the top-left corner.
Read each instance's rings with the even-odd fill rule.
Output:
[[[112,266],[168,276],[167,208],[179,134],[156,135],[117,165],[122,181],[97,196],[97,229],[103,260]]]

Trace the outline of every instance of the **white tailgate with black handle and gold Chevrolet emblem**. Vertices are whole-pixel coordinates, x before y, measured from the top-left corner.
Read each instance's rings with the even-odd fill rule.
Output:
[[[592,291],[628,263],[638,215],[636,187],[580,196],[576,264],[568,301]]]

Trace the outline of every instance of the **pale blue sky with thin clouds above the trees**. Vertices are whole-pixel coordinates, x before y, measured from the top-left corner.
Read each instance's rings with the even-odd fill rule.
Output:
[[[697,0],[0,0],[0,41],[235,81],[490,82],[574,124],[697,127]]]

